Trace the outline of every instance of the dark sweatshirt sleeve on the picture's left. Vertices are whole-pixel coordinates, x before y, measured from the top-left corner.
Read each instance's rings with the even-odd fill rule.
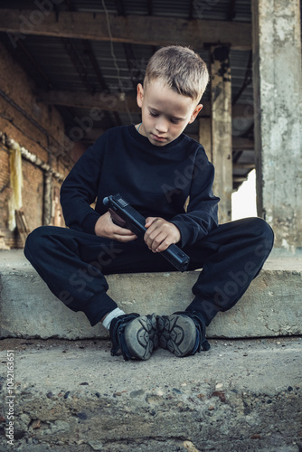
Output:
[[[90,207],[98,194],[101,170],[98,142],[81,155],[61,185],[61,208],[66,225],[90,234],[95,233],[99,219],[99,213]]]

